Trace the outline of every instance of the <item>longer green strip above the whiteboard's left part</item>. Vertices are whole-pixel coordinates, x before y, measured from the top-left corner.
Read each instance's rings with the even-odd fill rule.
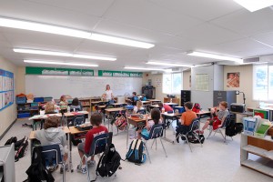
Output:
[[[25,67],[26,75],[47,76],[94,76],[93,69],[71,69],[55,67]]]

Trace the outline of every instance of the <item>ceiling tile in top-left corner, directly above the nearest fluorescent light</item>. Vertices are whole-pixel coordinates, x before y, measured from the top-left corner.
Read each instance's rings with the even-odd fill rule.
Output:
[[[0,15],[86,31],[92,30],[99,20],[96,16],[24,0],[1,1]]]

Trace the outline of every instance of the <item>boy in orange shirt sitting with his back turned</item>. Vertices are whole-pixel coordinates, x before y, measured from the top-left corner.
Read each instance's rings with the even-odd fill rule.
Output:
[[[177,134],[183,133],[186,134],[189,131],[189,126],[192,124],[192,121],[197,118],[197,114],[193,112],[192,109],[193,104],[191,102],[187,102],[184,104],[186,112],[184,112],[181,116],[181,125],[177,126]],[[179,138],[177,137],[177,143],[179,143]]]

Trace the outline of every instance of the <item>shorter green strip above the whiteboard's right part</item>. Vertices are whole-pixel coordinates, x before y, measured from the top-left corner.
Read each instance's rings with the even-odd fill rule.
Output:
[[[142,72],[98,70],[98,76],[110,76],[110,77],[142,77],[142,75],[143,75]]]

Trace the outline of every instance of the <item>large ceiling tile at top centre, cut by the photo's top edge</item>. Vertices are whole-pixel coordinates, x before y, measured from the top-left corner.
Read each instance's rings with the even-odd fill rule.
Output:
[[[106,12],[106,18],[168,34],[182,32],[184,29],[202,22],[145,0],[116,0],[115,4]]]

